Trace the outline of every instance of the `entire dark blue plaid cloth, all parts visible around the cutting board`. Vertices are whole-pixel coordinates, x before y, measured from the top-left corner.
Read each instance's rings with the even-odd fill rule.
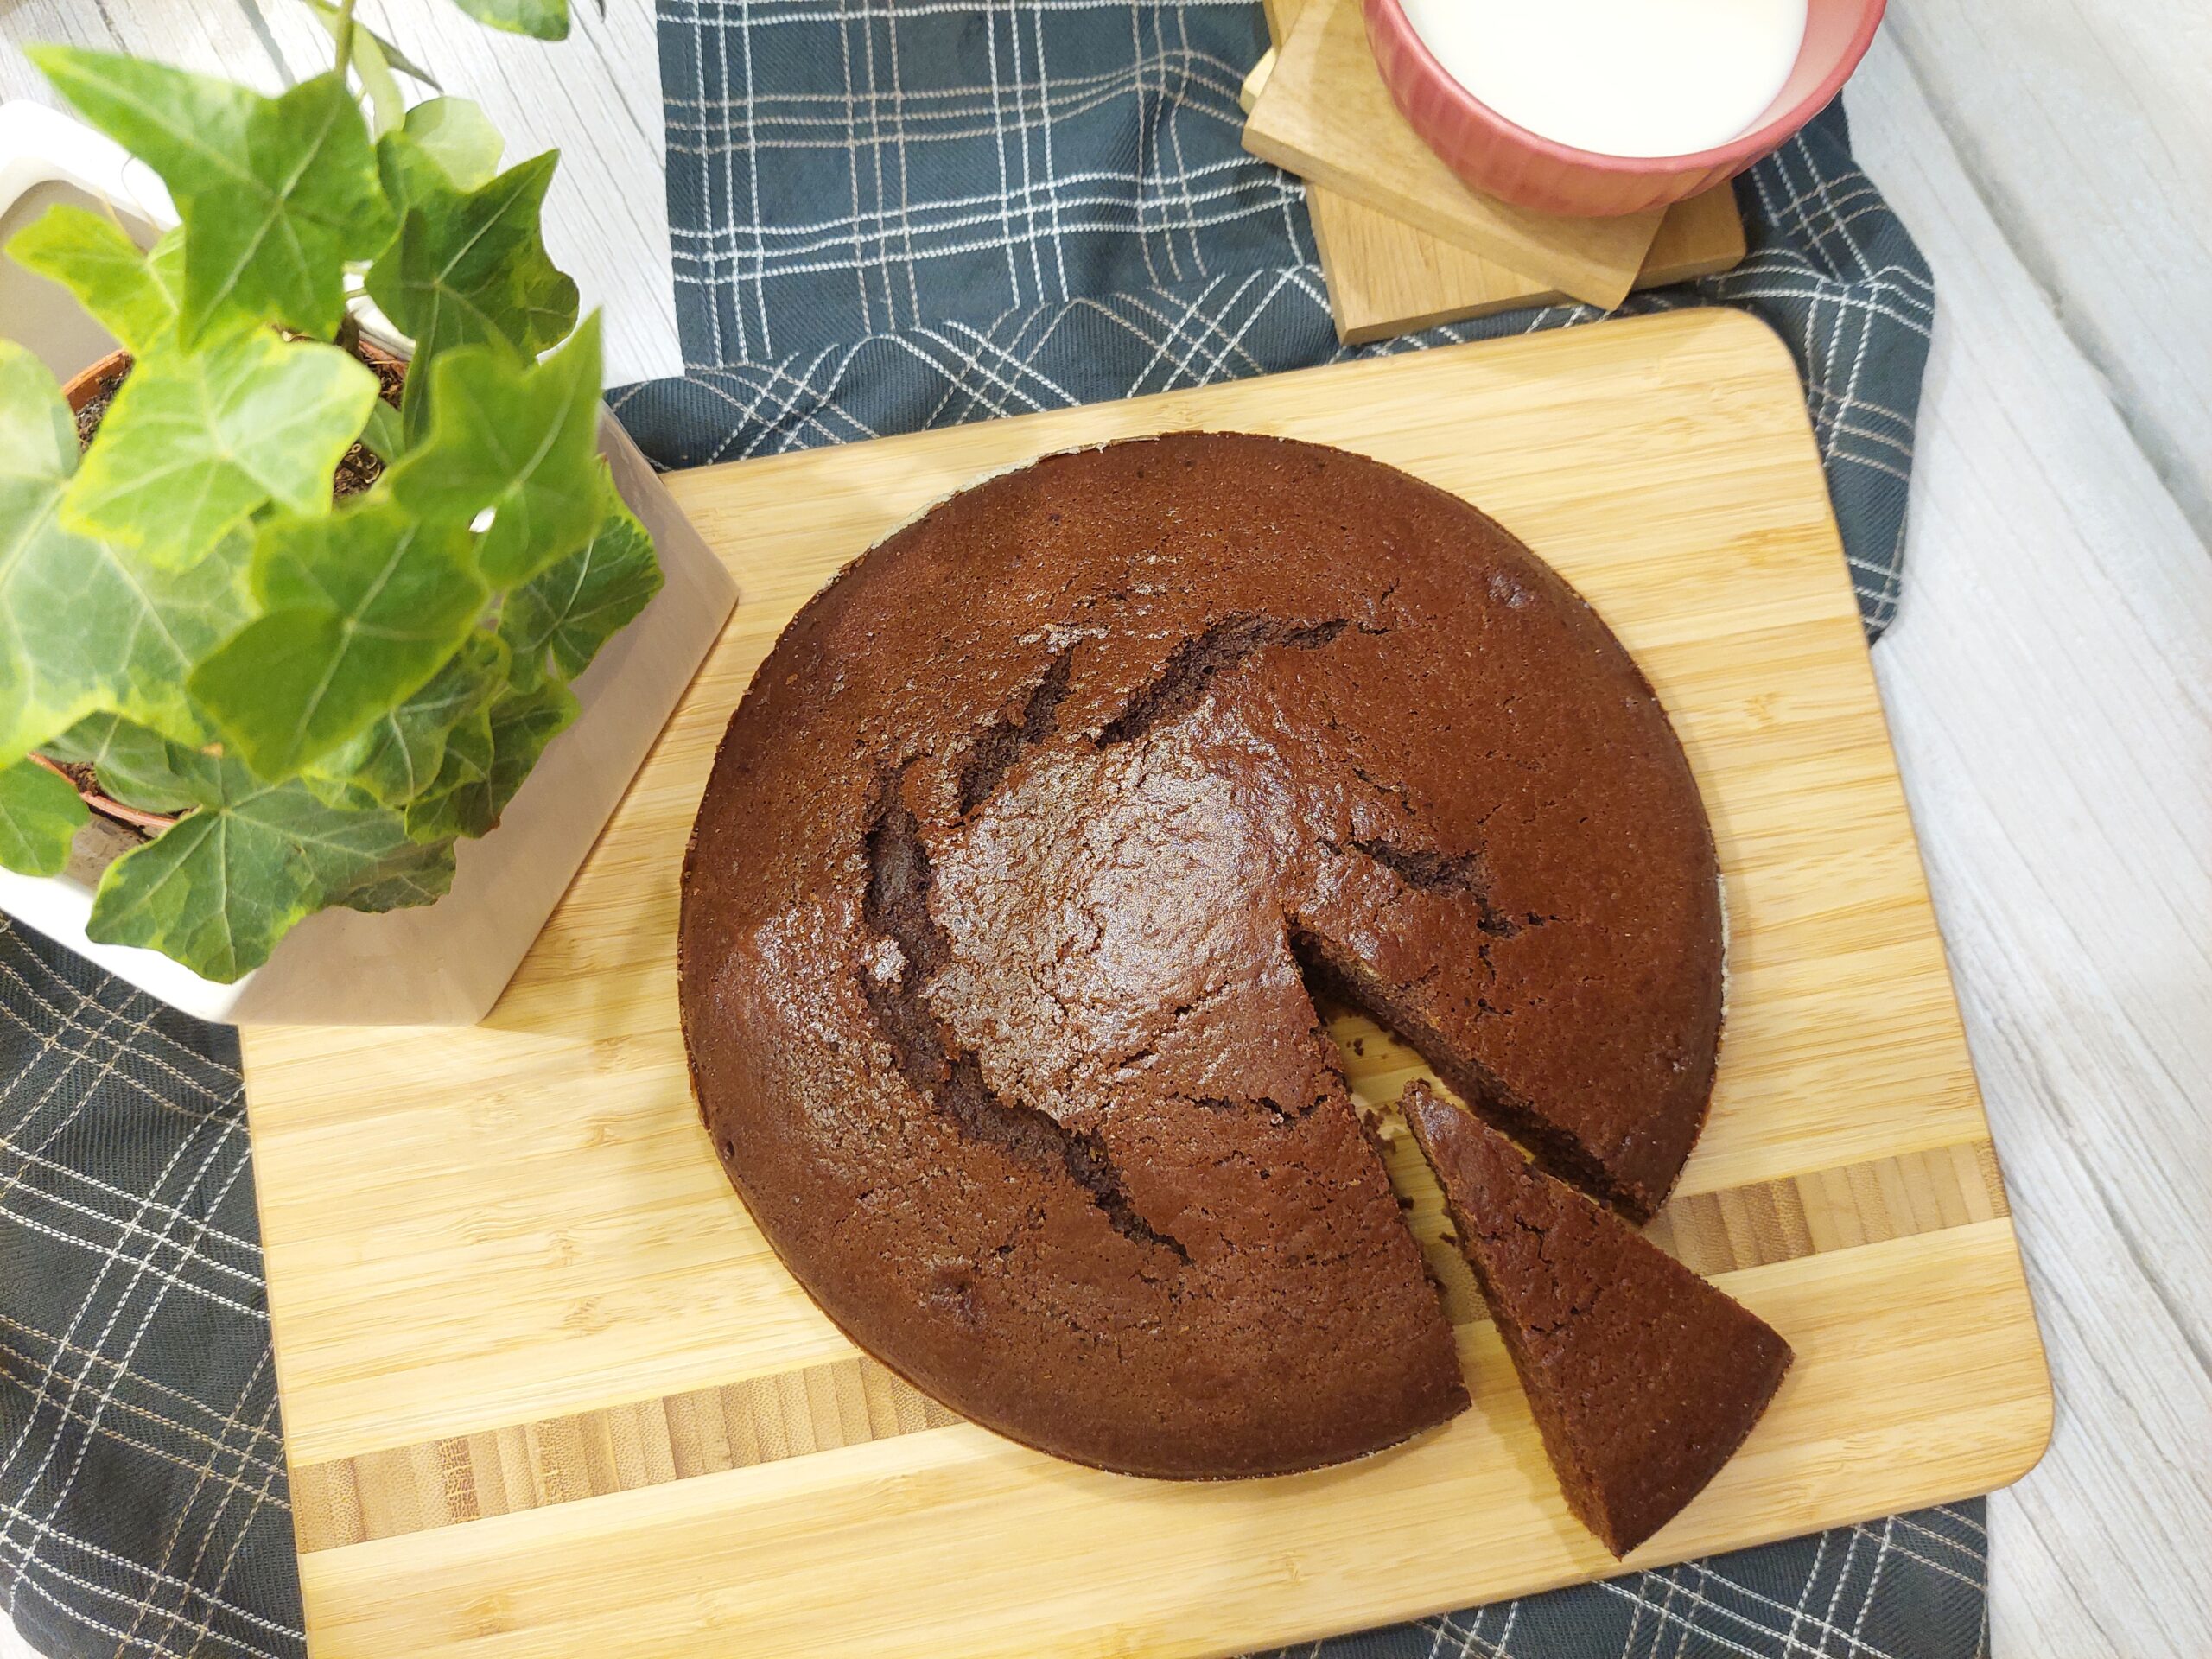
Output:
[[[1250,0],[661,0],[692,367],[617,407],[681,467],[1347,356],[1301,186],[1239,148],[1261,49]],[[1739,195],[1750,259],[1630,310],[1790,343],[1878,633],[1929,274],[1840,108]],[[1975,1502],[1292,1652],[1951,1659],[1982,1586]],[[237,1046],[4,922],[0,1601],[55,1655],[301,1652]]]

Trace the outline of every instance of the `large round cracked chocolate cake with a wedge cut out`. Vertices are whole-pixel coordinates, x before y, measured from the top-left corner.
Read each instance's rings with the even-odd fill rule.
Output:
[[[1721,909],[1548,566],[1371,460],[1181,434],[978,484],[799,613],[679,969],[714,1148],[856,1343],[1046,1451],[1252,1475],[1467,1400],[1310,982],[1644,1214]]]

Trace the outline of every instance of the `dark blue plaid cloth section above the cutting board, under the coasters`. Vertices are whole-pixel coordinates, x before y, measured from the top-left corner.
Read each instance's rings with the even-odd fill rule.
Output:
[[[615,398],[664,467],[1590,321],[1336,345],[1305,186],[1241,148],[1256,0],[661,0],[688,372]],[[1624,310],[1787,341],[1869,633],[1898,608],[1936,292],[1843,108],[1736,186],[1750,257]]]

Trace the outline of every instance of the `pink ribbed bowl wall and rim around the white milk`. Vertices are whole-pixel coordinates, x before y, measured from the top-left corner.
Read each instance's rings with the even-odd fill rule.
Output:
[[[1796,133],[1867,55],[1885,0],[1812,0],[1796,69],[1741,137],[1692,155],[1599,155],[1515,126],[1444,73],[1398,0],[1363,0],[1383,82],[1422,142],[1469,186],[1540,212],[1599,219],[1694,197]]]

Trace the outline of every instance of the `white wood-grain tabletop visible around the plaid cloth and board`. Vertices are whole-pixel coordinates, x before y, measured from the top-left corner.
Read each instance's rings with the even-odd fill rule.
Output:
[[[672,374],[653,18],[577,13],[546,49],[363,7],[515,153],[562,146],[549,239],[608,305],[611,380]],[[268,84],[327,51],[288,0],[0,0],[0,40]],[[1849,100],[1942,310],[1874,659],[2059,1402],[1991,1500],[2000,1655],[2212,1644],[2208,64],[2201,0],[1900,0]]]

